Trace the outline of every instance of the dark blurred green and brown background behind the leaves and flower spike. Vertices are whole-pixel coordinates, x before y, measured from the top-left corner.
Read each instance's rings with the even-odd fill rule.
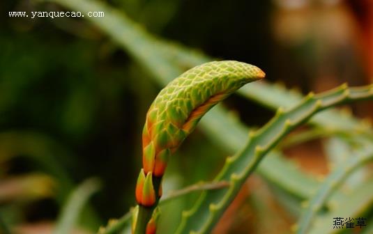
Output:
[[[102,2],[161,38],[218,59],[252,63],[268,81],[303,93],[373,81],[370,1]],[[86,231],[97,230],[135,204],[142,125],[162,87],[86,19],[8,15],[66,8],[2,0],[0,9],[1,217],[20,233],[50,230],[72,189],[96,177],[102,186],[81,223]],[[237,95],[224,105],[248,125],[263,125],[273,115]],[[353,113],[372,116],[372,108],[356,104]],[[213,178],[227,153],[197,129],[172,158],[165,190]],[[325,173],[312,165],[310,171]],[[245,220],[216,232],[245,233]]]

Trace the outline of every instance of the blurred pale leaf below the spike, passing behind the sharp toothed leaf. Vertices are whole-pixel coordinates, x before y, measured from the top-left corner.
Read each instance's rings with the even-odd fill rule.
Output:
[[[227,118],[220,105],[211,109],[201,119],[201,127],[217,146],[224,146],[229,152],[236,152],[245,146],[243,139],[248,138],[250,129],[231,116]],[[277,150],[271,150],[258,166],[260,176],[273,185],[281,187],[298,198],[309,198],[316,191],[319,182],[298,169],[294,162],[282,157]]]

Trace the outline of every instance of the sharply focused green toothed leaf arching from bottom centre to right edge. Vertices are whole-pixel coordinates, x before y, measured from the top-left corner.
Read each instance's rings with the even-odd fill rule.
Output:
[[[229,188],[204,192],[193,208],[183,212],[183,219],[176,233],[210,233],[245,179],[280,139],[323,109],[351,100],[366,99],[373,99],[373,86],[347,88],[344,85],[321,95],[308,95],[302,103],[289,111],[277,111],[267,125],[250,134],[245,148],[228,158],[215,178],[215,181],[229,181]]]

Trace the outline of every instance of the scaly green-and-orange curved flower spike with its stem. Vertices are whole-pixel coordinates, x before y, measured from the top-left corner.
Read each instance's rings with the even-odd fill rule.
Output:
[[[184,72],[160,91],[146,114],[142,132],[144,170],[136,187],[139,219],[135,234],[147,233],[148,224],[149,233],[155,231],[151,215],[162,195],[161,181],[169,157],[202,116],[244,84],[264,77],[263,71],[247,63],[211,62]]]

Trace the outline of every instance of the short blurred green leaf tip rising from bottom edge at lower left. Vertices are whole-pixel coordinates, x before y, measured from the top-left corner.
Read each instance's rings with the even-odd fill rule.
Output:
[[[68,201],[63,205],[63,210],[57,220],[54,234],[72,233],[80,212],[86,205],[89,197],[98,191],[100,182],[91,178],[84,181],[70,194]]]

